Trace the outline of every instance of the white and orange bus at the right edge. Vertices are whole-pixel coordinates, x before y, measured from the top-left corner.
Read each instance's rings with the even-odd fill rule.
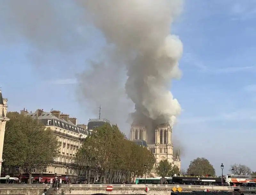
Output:
[[[227,175],[228,185],[256,187],[256,176],[252,175]]]

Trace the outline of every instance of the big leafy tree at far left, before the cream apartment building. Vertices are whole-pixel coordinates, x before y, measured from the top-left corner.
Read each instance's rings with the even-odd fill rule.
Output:
[[[4,166],[20,166],[28,170],[29,183],[32,170],[51,163],[58,154],[59,144],[50,129],[29,116],[17,112],[7,113],[4,135]]]

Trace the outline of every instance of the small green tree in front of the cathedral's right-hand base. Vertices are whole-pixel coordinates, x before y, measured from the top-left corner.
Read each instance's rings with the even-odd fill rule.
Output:
[[[169,163],[168,160],[161,160],[156,167],[156,173],[161,177],[172,177],[174,174],[179,174],[180,169],[176,165]]]

